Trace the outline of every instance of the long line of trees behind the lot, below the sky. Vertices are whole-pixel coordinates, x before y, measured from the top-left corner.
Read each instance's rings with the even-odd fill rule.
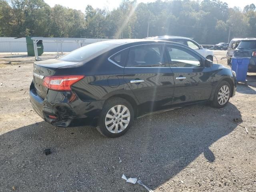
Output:
[[[82,3],[82,2],[81,2]],[[149,28],[149,30],[148,30]],[[256,6],[241,10],[219,0],[172,0],[136,3],[123,0],[113,10],[84,12],[44,0],[0,0],[0,36],[145,38],[175,35],[201,44],[256,37]]]

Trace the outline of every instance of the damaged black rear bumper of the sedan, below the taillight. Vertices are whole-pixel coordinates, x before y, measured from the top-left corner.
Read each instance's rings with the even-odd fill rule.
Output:
[[[30,86],[30,102],[34,111],[46,122],[54,126],[68,127],[75,120],[94,124],[104,101],[82,101],[74,92],[48,90],[46,98],[41,98]]]

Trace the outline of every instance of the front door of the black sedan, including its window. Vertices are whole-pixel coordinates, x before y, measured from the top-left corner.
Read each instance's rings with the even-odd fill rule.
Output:
[[[166,46],[170,68],[174,75],[173,104],[188,104],[208,100],[212,92],[211,68],[188,48]]]

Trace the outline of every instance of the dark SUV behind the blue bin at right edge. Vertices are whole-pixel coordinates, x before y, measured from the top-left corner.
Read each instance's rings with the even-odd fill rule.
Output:
[[[233,57],[250,58],[248,72],[256,72],[256,38],[246,38],[241,40],[234,51]]]

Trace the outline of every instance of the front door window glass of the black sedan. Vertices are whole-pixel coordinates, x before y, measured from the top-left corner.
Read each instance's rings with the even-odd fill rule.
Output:
[[[178,49],[167,47],[171,59],[170,67],[200,67],[200,58]]]

